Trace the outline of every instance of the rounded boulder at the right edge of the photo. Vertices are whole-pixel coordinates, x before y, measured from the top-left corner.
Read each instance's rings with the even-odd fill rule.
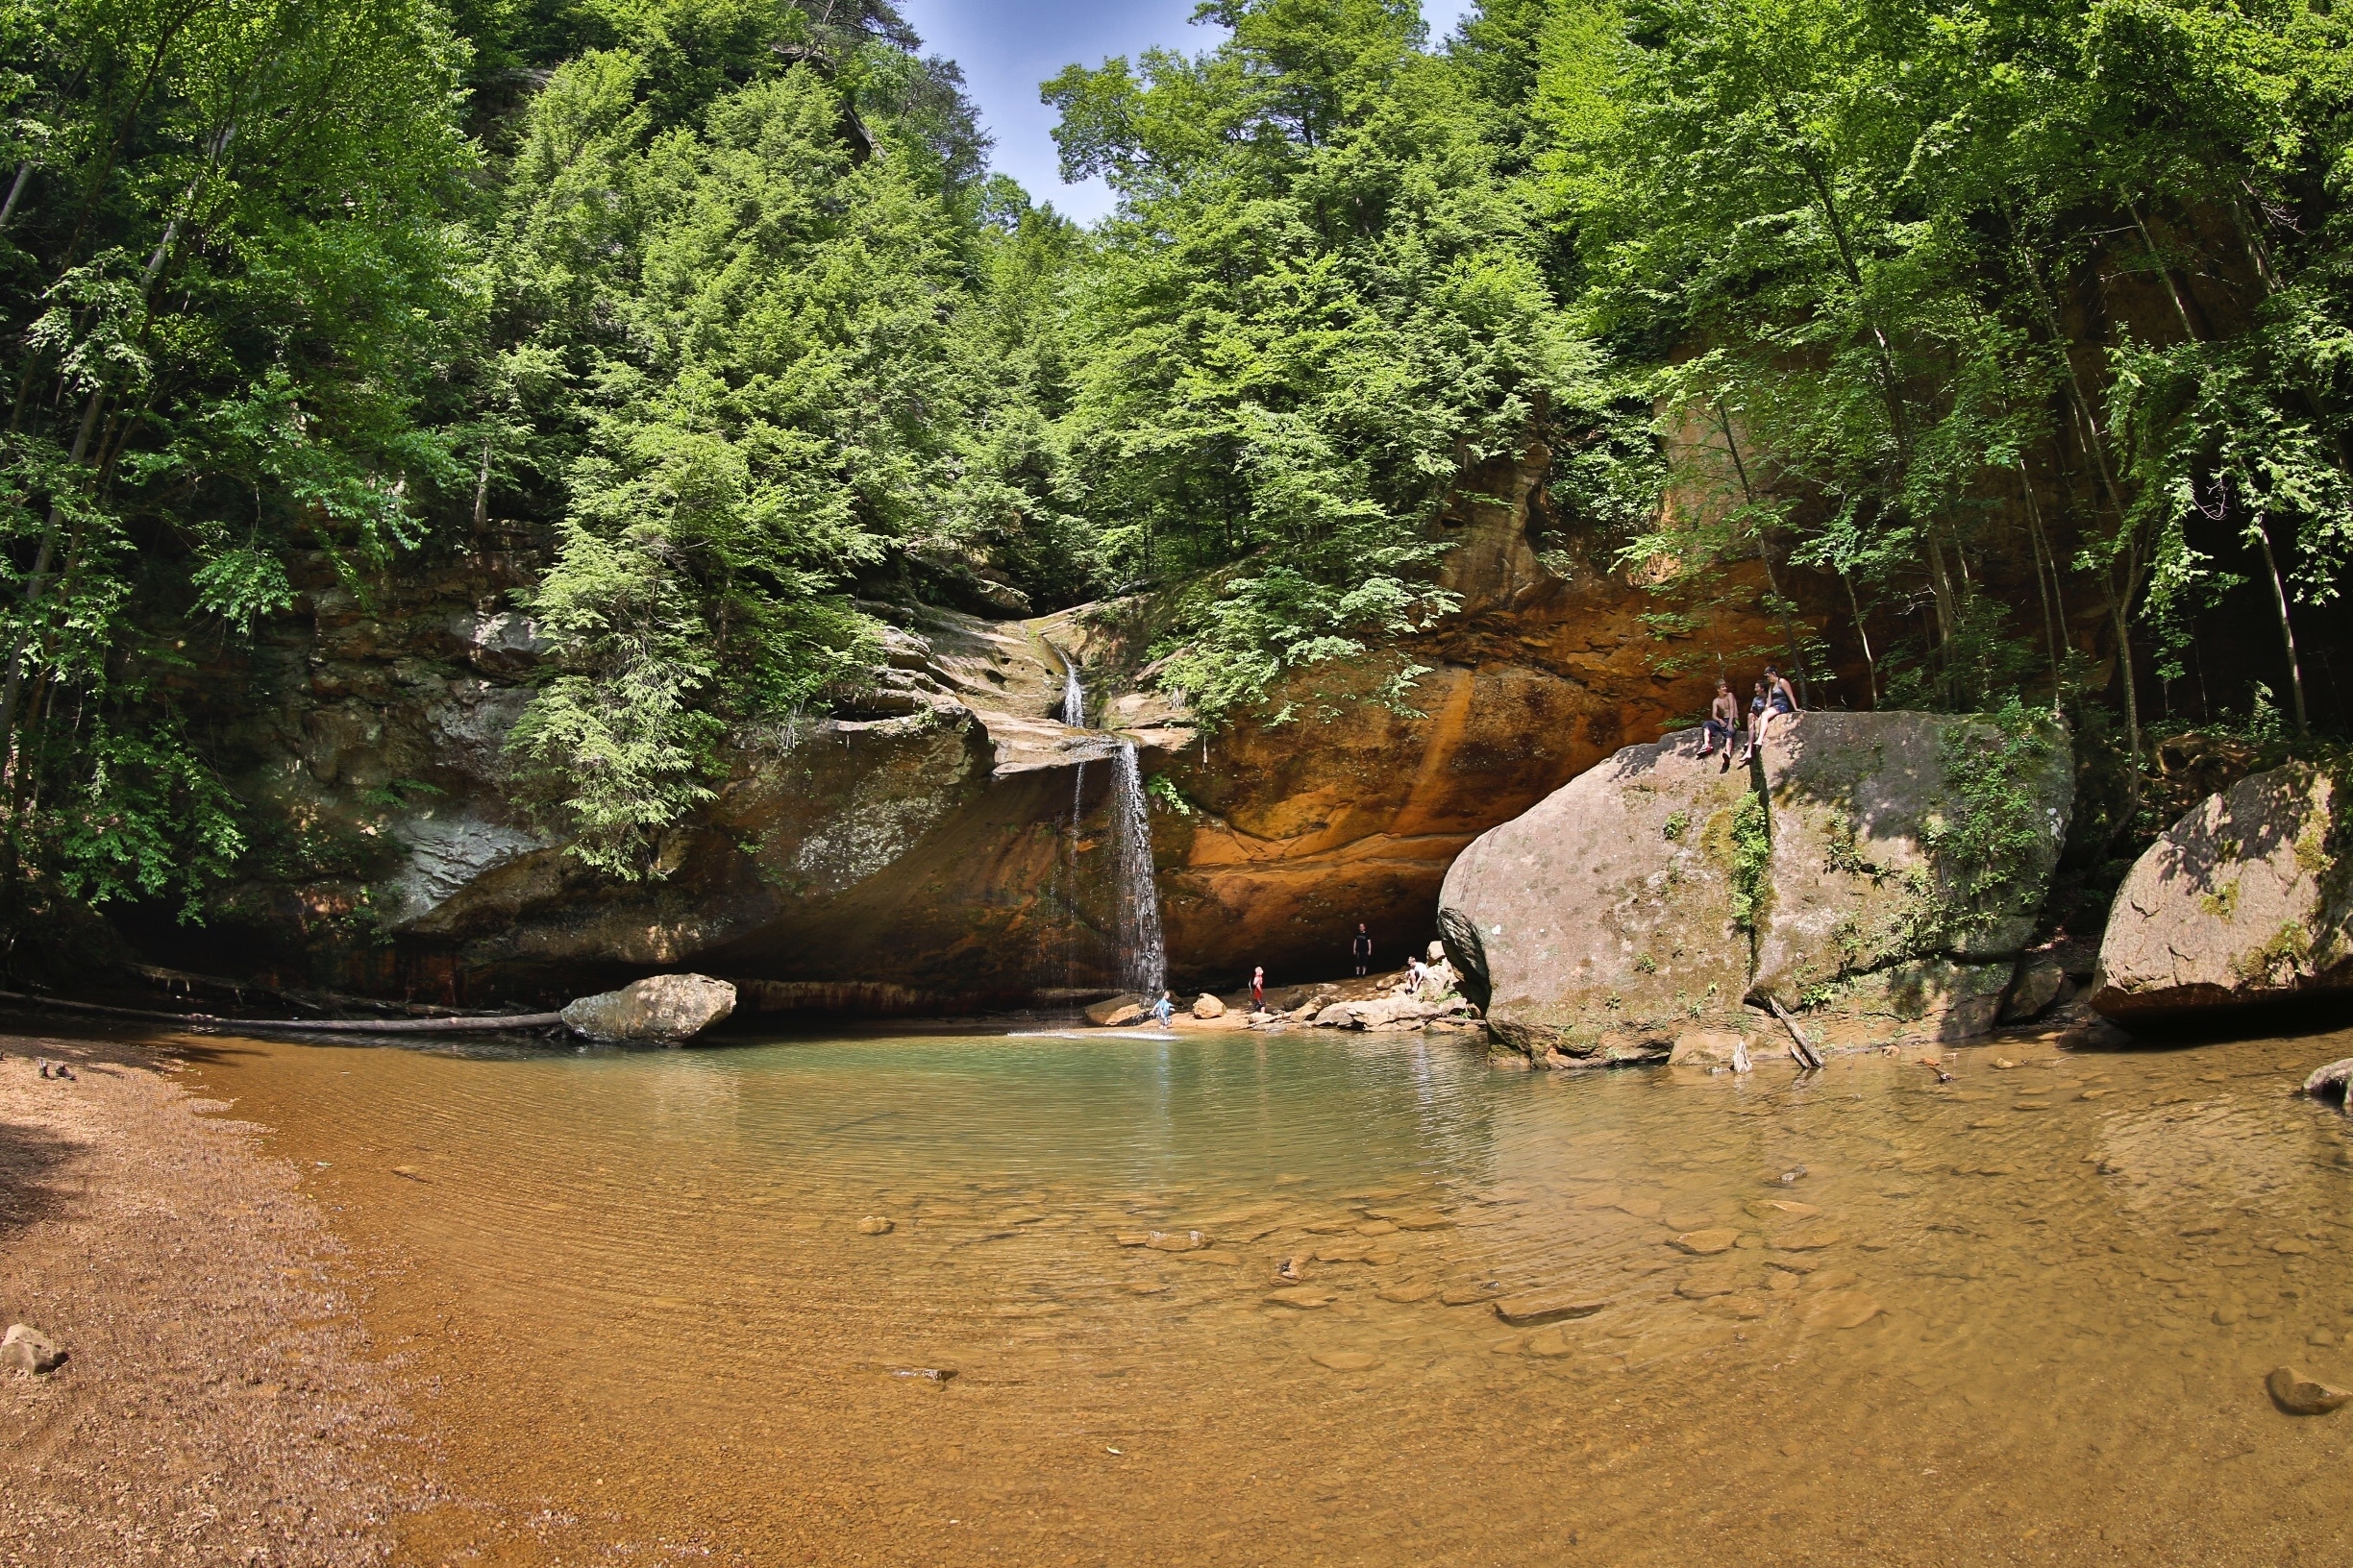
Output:
[[[2337,785],[2242,778],[2151,844],[2108,910],[2092,1006],[2162,1018],[2353,990]]]

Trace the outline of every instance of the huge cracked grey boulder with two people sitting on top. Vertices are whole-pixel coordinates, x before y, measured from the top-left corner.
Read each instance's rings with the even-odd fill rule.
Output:
[[[2073,806],[2057,724],[1817,712],[1753,771],[1699,748],[1631,745],[1447,872],[1440,929],[1499,1041],[1659,1060],[1751,1032],[1746,1001],[1826,1046],[1993,1027]]]

